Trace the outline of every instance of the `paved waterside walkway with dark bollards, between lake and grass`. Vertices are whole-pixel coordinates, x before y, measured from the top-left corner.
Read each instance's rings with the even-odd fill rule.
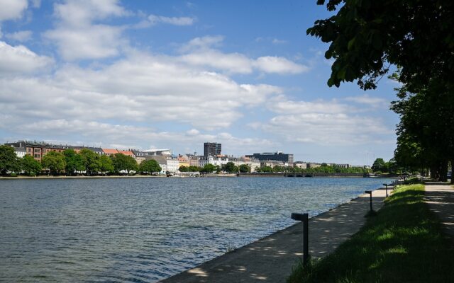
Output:
[[[384,188],[372,192],[373,209],[382,207],[384,195]],[[311,257],[331,253],[356,233],[365,223],[369,200],[368,194],[362,195],[309,219]],[[302,255],[302,230],[301,223],[295,224],[162,282],[285,282]]]

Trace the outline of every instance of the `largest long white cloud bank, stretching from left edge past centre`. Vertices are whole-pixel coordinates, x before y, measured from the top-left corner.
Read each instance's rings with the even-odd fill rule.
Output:
[[[96,70],[67,66],[47,78],[0,79],[0,89],[0,110],[30,120],[173,121],[201,129],[229,127],[241,107],[281,91],[147,54]]]

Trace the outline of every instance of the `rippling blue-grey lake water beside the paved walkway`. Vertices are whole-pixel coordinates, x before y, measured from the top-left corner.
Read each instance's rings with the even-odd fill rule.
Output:
[[[156,282],[389,181],[0,180],[0,281]]]

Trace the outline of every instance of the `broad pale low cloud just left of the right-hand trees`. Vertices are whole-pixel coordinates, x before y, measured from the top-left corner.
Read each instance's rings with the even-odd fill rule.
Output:
[[[377,117],[358,115],[358,110],[336,100],[292,101],[279,96],[268,103],[278,115],[250,127],[297,141],[325,145],[377,143],[394,134]]]

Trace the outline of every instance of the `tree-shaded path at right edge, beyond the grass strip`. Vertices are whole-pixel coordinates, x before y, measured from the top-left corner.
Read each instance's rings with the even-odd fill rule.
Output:
[[[446,235],[454,245],[454,187],[426,184],[426,202],[443,224]]]

